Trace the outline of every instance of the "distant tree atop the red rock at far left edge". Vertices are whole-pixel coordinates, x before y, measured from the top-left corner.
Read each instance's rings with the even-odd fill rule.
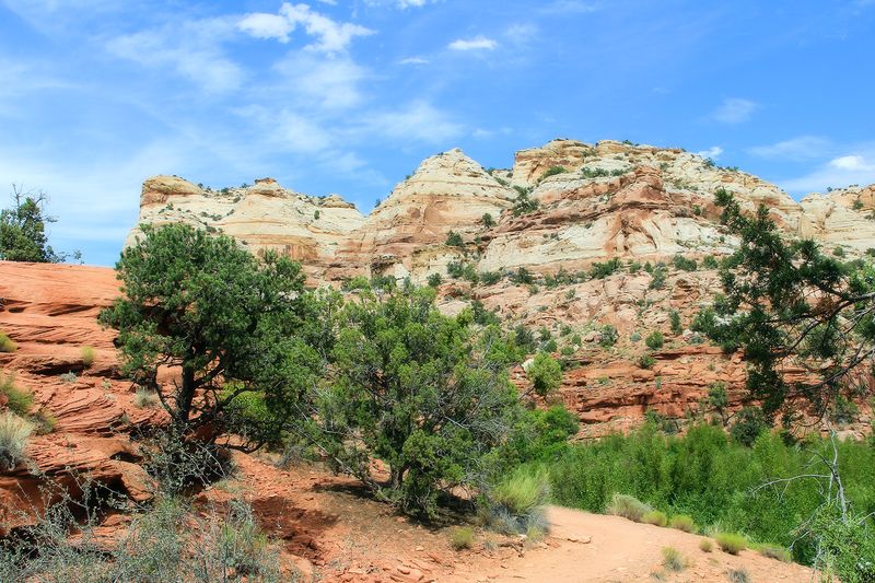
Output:
[[[12,186],[12,207],[0,211],[0,259],[7,261],[60,263],[67,254],[48,244],[46,223],[56,219],[45,213],[46,195],[25,194]],[[73,258],[80,257],[79,252]]]

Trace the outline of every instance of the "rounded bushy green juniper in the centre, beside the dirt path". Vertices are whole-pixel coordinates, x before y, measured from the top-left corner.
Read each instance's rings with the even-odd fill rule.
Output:
[[[339,469],[428,517],[442,490],[478,482],[523,413],[501,338],[475,336],[469,312],[444,316],[433,300],[422,288],[349,302],[314,416],[314,441]],[[372,474],[374,458],[387,483]]]

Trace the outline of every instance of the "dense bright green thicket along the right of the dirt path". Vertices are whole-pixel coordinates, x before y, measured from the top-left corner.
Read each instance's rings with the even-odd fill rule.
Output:
[[[810,473],[812,452],[825,454],[828,444],[820,439],[788,444],[780,434],[763,432],[748,447],[715,425],[698,424],[686,436],[667,436],[649,423],[628,436],[569,446],[549,466],[552,500],[639,521],[654,509],[682,514],[688,517],[684,529],[691,523],[720,524],[721,529],[781,547],[800,538],[793,557],[810,563],[814,536],[801,536],[798,528],[820,506],[821,483],[793,480],[757,488]],[[860,515],[875,512],[875,447],[853,441],[837,447],[849,500]],[[861,540],[871,540],[873,528],[867,518]]]

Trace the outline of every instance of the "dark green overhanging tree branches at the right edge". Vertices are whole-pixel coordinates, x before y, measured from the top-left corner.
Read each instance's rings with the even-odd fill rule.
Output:
[[[725,298],[697,327],[727,349],[743,348],[747,386],[772,416],[807,401],[818,417],[849,393],[868,392],[875,363],[875,267],[841,263],[813,241],[786,242],[765,206],[752,217],[721,189],[722,222],[740,242],[721,268]],[[788,370],[803,374],[788,377]]]

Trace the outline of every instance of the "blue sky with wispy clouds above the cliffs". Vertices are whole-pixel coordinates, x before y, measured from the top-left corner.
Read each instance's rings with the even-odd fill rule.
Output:
[[[556,137],[875,183],[875,0],[0,0],[0,194],[112,265],[140,184],[272,176],[369,211],[425,156]]]

